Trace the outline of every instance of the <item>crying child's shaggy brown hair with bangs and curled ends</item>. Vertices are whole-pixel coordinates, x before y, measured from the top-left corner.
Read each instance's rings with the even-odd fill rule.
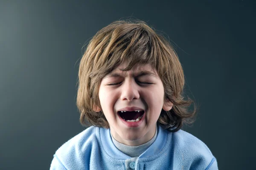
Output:
[[[170,111],[162,109],[157,123],[172,132],[180,130],[183,123],[192,123],[196,107],[183,96],[184,74],[175,50],[169,41],[158,35],[140,20],[116,21],[104,27],[90,40],[79,64],[79,87],[76,105],[82,125],[109,128],[99,101],[99,86],[102,78],[124,61],[130,70],[135,64],[149,63],[163,82],[164,98],[173,103]],[[195,106],[195,104],[194,104]]]

